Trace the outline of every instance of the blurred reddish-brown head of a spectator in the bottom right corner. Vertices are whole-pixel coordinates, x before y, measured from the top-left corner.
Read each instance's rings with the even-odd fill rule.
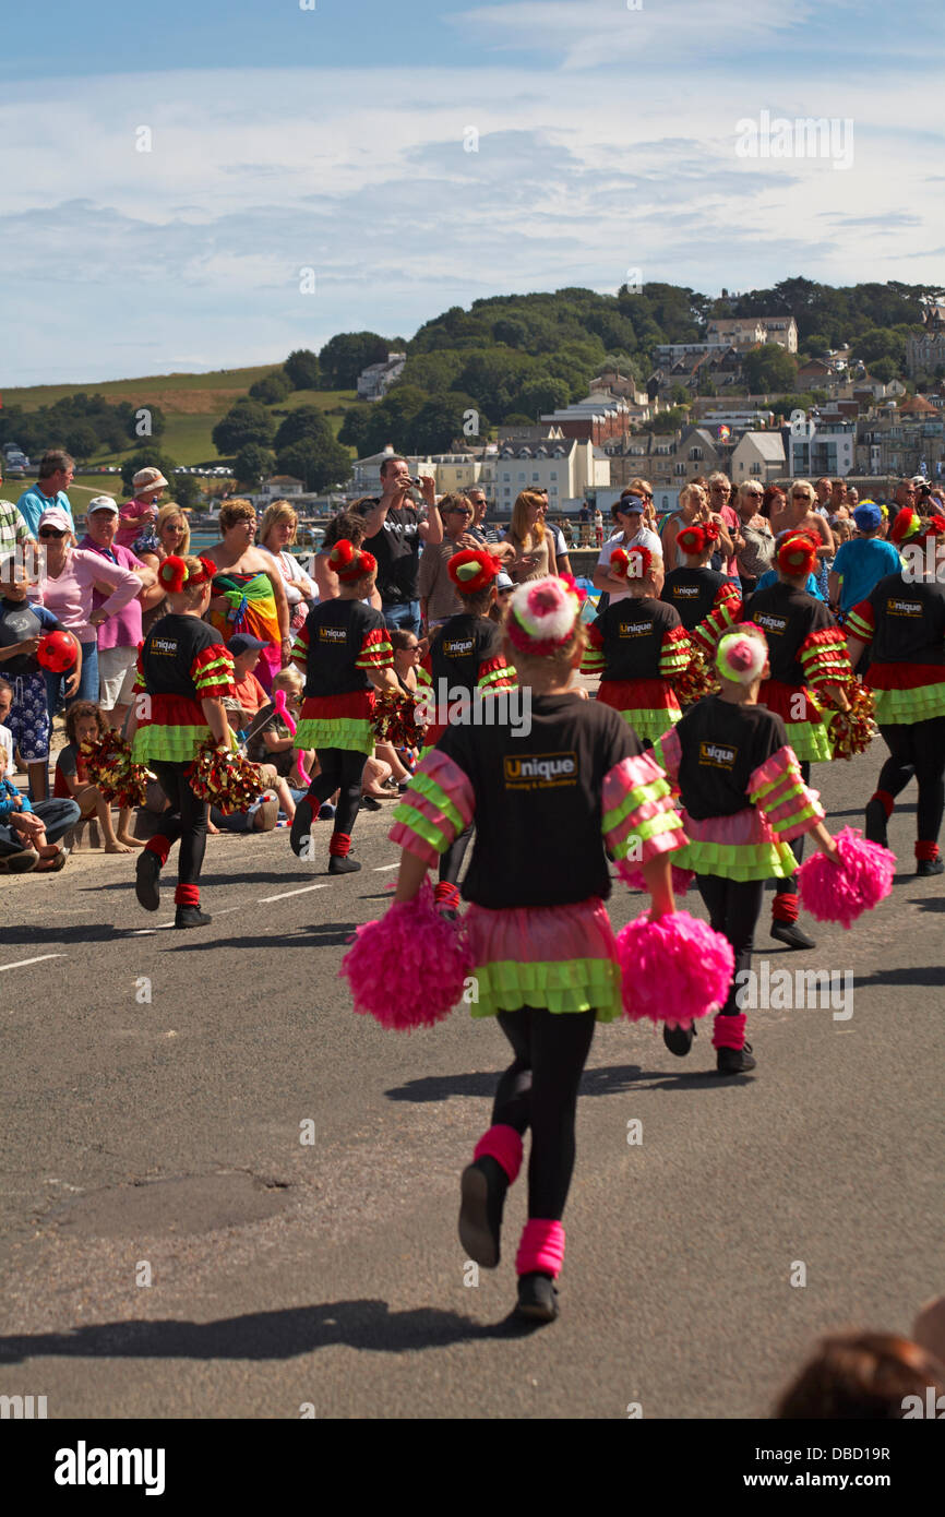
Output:
[[[831,1333],[781,1394],[780,1420],[899,1421],[909,1397],[945,1394],[945,1367],[925,1349],[884,1332]],[[922,1412],[924,1415],[924,1412]]]

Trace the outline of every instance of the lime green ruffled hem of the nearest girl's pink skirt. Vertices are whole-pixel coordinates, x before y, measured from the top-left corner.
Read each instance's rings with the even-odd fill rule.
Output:
[[[599,1022],[613,1022],[623,1012],[620,966],[611,959],[564,959],[558,963],[519,963],[504,959],[475,969],[479,1000],[473,1016],[517,1012],[520,1006],[543,1006],[549,1012],[592,1012]]]

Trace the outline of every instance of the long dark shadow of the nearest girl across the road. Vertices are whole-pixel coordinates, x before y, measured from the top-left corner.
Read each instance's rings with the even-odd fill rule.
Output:
[[[89,1323],[71,1332],[0,1336],[0,1367],[26,1359],[294,1359],[316,1349],[344,1344],[379,1353],[444,1349],[454,1343],[516,1338],[534,1330],[510,1315],[501,1323],[475,1323],[458,1312],[420,1306],[391,1312],[387,1302],[325,1302],[249,1312],[212,1323],[117,1321]]]

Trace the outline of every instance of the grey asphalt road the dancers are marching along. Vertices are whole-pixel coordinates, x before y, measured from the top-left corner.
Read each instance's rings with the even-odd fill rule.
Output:
[[[877,769],[815,769],[834,830]],[[138,909],[121,857],[8,878],[0,1393],[50,1417],[727,1418],[764,1415],[824,1329],[909,1332],[945,1289],[945,890],[913,877],[906,801],[875,913],[804,954],[763,918],[772,971],[851,971],[849,1018],[751,1013],[737,1080],[707,1033],[683,1062],[598,1029],[563,1312],[532,1332],[508,1321],[523,1185],[498,1271],[470,1283],[455,1235],[499,1029],[385,1033],[337,978],[388,898],[387,816],[337,880],[285,831],[211,839],[194,933]],[[642,900],[619,886],[614,925]]]

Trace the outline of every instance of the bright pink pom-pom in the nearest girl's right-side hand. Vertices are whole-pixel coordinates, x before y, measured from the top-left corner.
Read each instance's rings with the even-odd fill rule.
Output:
[[[649,912],[617,933],[623,1015],[633,1022],[692,1022],[719,1009],[736,968],[731,944],[708,922]]]

